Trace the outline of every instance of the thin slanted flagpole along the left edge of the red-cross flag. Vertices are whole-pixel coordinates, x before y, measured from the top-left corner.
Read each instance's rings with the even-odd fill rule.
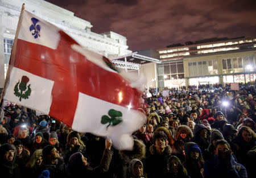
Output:
[[[13,49],[11,49],[11,56],[13,55],[14,51],[16,51],[16,42],[17,42],[19,28],[21,26],[20,16],[21,16],[24,9],[25,9],[25,3],[23,3],[22,9],[21,9],[20,14],[19,14],[19,22],[18,22],[17,29],[16,29],[16,32],[15,32],[15,39],[14,39]],[[11,56],[10,56],[9,66],[8,66],[7,73],[6,73],[6,78],[9,77]],[[2,105],[3,105],[3,94],[5,93],[5,86],[6,86],[6,80],[5,80],[5,84],[3,84],[3,90],[2,90],[1,98],[0,98],[0,107],[2,107]]]

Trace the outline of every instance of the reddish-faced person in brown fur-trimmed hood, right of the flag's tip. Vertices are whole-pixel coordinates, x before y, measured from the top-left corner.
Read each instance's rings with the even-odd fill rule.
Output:
[[[176,155],[181,162],[184,161],[185,155],[184,155],[184,144],[186,142],[190,142],[190,140],[193,138],[192,130],[185,125],[181,125],[177,127],[174,139],[174,150],[172,150],[172,155]]]

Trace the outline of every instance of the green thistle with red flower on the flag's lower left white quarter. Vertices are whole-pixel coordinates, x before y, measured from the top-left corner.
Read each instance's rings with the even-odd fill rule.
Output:
[[[22,98],[25,100],[28,99],[28,96],[31,94],[30,85],[27,86],[28,81],[30,81],[30,79],[27,76],[22,76],[21,82],[16,83],[14,87],[14,94],[19,97],[19,101],[21,101]]]

